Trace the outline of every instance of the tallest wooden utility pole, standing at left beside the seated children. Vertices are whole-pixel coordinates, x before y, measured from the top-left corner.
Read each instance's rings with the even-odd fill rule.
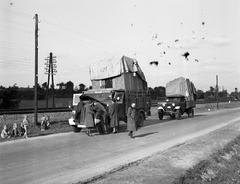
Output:
[[[38,121],[38,15],[35,14],[35,90],[34,90],[34,123]]]

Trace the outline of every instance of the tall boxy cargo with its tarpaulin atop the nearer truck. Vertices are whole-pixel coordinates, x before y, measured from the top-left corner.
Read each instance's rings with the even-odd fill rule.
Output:
[[[112,57],[90,65],[92,89],[147,90],[145,76],[134,58]]]

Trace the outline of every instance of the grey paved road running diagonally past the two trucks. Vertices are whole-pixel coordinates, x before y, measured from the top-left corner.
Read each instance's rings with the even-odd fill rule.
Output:
[[[12,183],[74,183],[127,165],[188,139],[240,119],[240,109],[196,114],[194,118],[159,122],[150,117],[130,139],[118,134],[87,137],[65,133],[0,144],[0,181]]]

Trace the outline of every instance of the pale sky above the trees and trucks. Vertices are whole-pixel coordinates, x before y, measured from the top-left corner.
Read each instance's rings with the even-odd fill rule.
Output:
[[[138,60],[149,87],[189,78],[197,89],[240,89],[239,0],[2,0],[0,85],[34,86],[56,56],[54,83],[91,85],[89,64],[125,55]],[[188,57],[184,57],[189,53]],[[150,64],[150,63],[157,63]]]

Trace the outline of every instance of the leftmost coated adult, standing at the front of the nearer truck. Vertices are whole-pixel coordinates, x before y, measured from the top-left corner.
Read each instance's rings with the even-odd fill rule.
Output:
[[[85,126],[87,128],[87,132],[86,134],[88,136],[93,136],[91,133],[91,128],[94,127],[94,112],[93,112],[93,102],[89,101],[87,102],[86,106],[85,106],[85,110],[86,110],[86,115],[85,115]]]

